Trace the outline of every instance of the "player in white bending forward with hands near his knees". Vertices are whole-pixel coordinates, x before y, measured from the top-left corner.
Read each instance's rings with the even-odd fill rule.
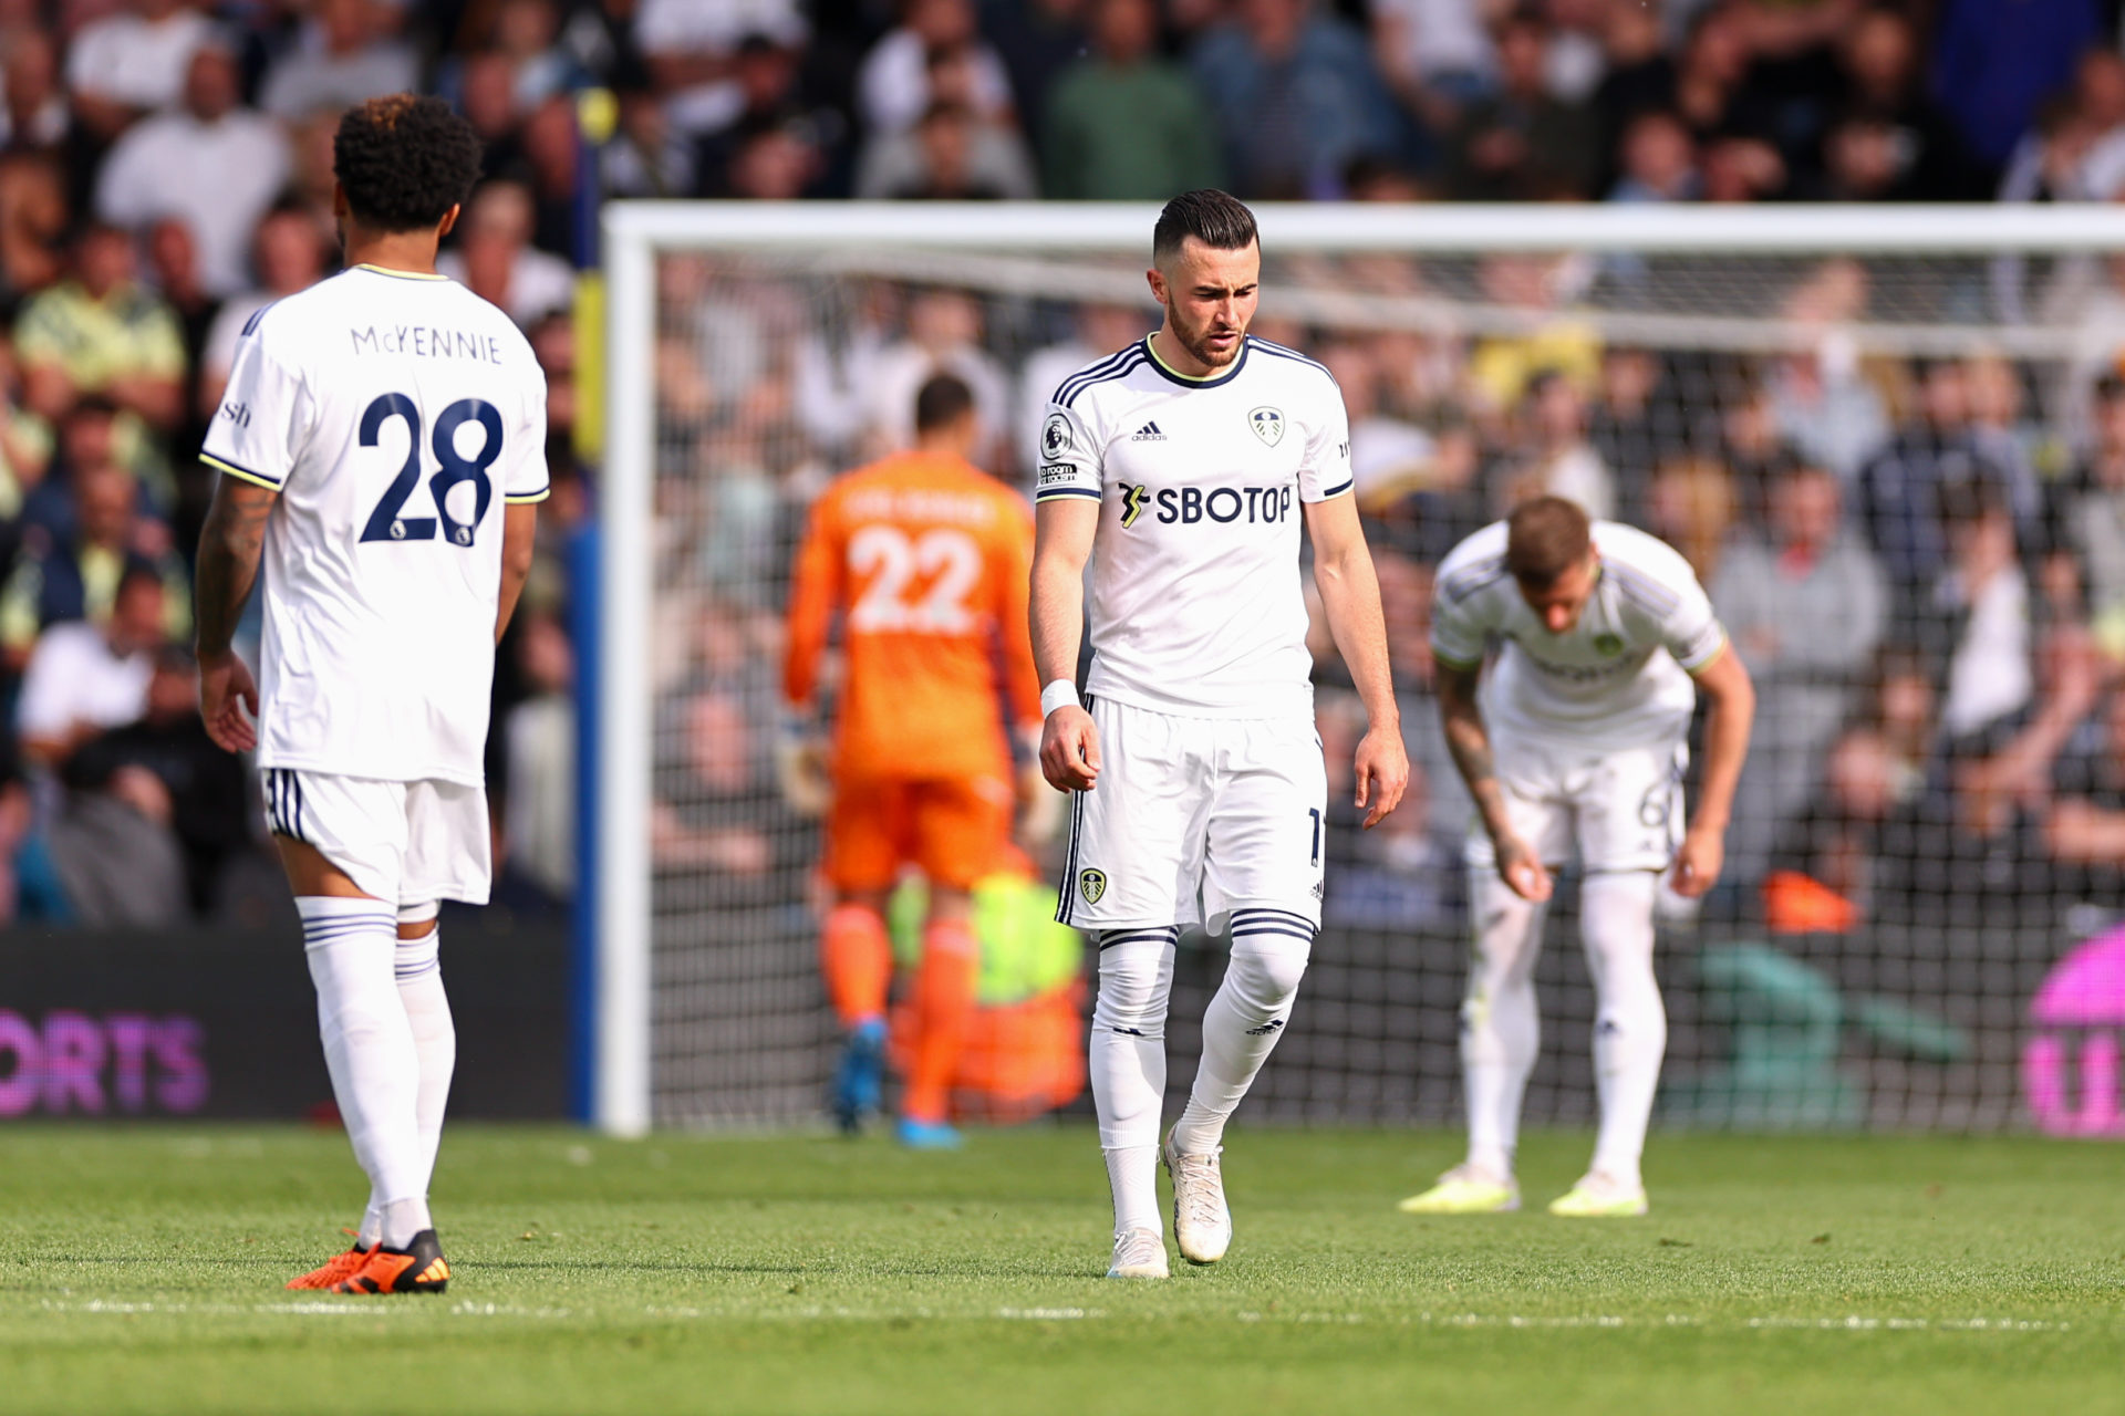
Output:
[[[1498,645],[1481,705],[1483,656]],[[1551,1214],[1645,1214],[1638,1155],[1668,1047],[1653,979],[1653,898],[1719,879],[1755,690],[1696,573],[1672,548],[1536,497],[1454,548],[1432,597],[1447,747],[1481,815],[1468,836],[1475,960],[1462,1004],[1468,1161],[1411,1214],[1519,1208],[1513,1146],[1541,1023],[1534,955],[1549,873],[1579,851],[1594,974],[1594,1165]],[[1683,826],[1685,735],[1711,698],[1698,813]]]

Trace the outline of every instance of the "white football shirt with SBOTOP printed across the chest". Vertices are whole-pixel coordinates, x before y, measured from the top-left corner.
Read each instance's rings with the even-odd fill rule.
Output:
[[[1101,503],[1086,692],[1186,718],[1313,711],[1298,505],[1349,493],[1343,393],[1247,338],[1220,374],[1150,338],[1062,380],[1035,501]]]

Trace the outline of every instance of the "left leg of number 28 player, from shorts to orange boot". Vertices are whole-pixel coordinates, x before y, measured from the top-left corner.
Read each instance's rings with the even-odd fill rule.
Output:
[[[317,987],[325,1068],[376,1210],[374,1233],[363,1236],[372,1240],[363,1267],[336,1284],[357,1282],[378,1255],[425,1257],[416,1242],[423,1233],[434,1240],[419,1129],[419,1051],[397,991],[404,792],[404,783],[314,773],[274,771],[268,779],[274,843],[302,915]],[[370,1219],[363,1223],[368,1227]],[[421,1263],[408,1274],[419,1278],[425,1270]],[[440,1282],[427,1287],[440,1289]]]

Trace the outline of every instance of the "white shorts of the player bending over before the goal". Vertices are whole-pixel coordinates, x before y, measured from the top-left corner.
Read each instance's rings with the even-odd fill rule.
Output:
[[[1683,741],[1587,747],[1492,730],[1492,760],[1513,832],[1545,866],[1666,870],[1683,843]],[[1494,870],[1483,822],[1468,830],[1468,866]]]

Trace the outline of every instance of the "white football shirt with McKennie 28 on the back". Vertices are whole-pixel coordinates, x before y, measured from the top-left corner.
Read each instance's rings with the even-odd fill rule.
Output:
[[[370,265],[266,306],[200,459],[280,493],[259,766],[480,785],[502,503],[546,497],[546,378],[510,316]]]

